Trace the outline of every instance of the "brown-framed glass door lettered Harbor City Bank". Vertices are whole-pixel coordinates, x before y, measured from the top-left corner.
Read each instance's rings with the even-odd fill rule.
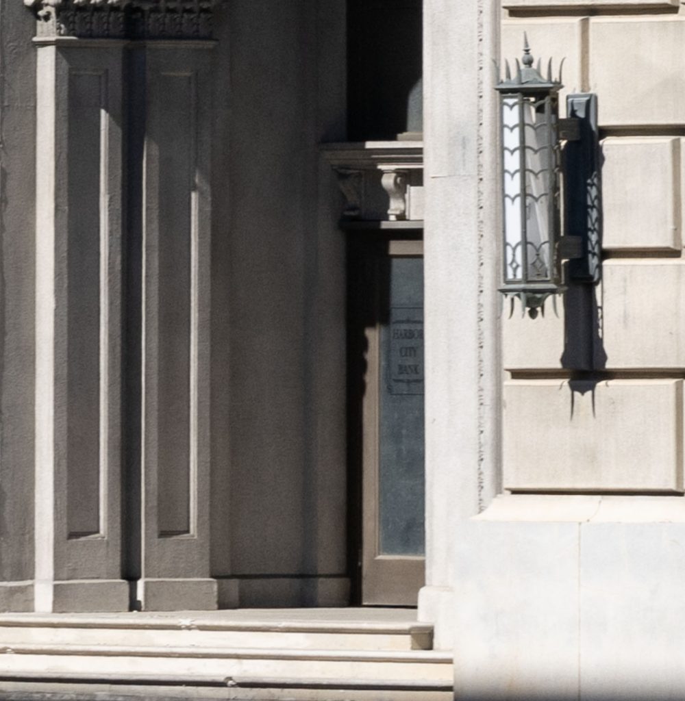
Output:
[[[362,421],[362,604],[415,605],[424,578],[421,242],[369,254]]]

